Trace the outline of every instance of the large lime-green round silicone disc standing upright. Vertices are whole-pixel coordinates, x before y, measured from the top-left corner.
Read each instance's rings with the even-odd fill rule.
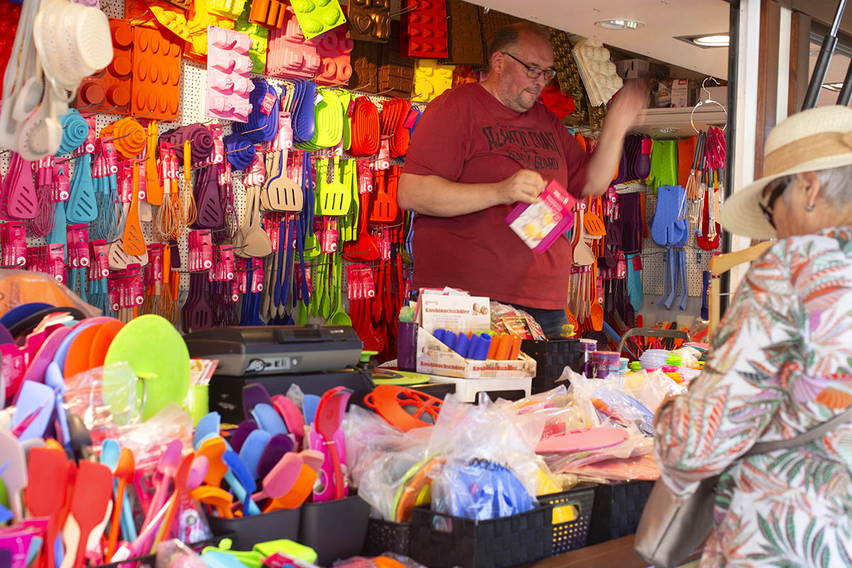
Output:
[[[138,399],[143,400],[144,396],[145,400],[142,420],[154,416],[170,402],[183,404],[189,389],[189,352],[168,319],[147,314],[125,324],[112,340],[104,364],[122,361],[144,379],[136,389]]]

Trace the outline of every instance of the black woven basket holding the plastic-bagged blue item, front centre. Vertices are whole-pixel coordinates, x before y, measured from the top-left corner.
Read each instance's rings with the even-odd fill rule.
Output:
[[[490,520],[412,509],[409,556],[429,568],[504,568],[547,558],[553,550],[552,505]]]

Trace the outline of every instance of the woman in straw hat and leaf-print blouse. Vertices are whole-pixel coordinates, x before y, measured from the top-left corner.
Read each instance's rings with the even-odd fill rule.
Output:
[[[729,232],[778,238],[712,337],[705,370],[656,422],[672,491],[722,474],[701,566],[852,565],[852,423],[792,439],[852,404],[852,109],[779,123],[765,175],[722,209]]]

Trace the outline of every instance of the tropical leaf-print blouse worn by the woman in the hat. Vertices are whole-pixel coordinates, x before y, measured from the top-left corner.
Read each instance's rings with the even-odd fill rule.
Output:
[[[852,566],[852,424],[789,450],[852,404],[852,227],[780,240],[746,274],[705,370],[658,416],[672,488],[722,473],[705,566]]]

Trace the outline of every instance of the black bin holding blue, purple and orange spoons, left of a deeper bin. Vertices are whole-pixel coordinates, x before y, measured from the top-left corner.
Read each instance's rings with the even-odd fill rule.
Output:
[[[208,515],[213,534],[235,533],[233,550],[251,550],[258,542],[277,541],[282,538],[295,541],[299,536],[302,508],[279,509],[269,513],[223,519]]]

